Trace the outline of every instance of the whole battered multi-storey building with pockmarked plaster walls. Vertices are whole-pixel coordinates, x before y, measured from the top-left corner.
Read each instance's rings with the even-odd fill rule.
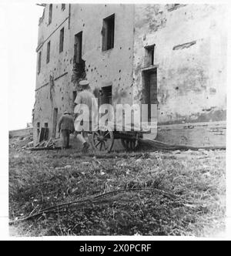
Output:
[[[34,141],[41,127],[56,135],[88,79],[99,103],[158,103],[156,140],[224,146],[225,15],[223,5],[44,5]]]

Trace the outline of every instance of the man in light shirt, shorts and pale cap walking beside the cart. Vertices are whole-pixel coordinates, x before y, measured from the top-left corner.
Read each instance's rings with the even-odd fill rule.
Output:
[[[79,82],[79,86],[82,88],[82,91],[79,92],[75,98],[75,104],[77,104],[77,106],[75,106],[74,113],[79,113],[80,110],[84,110],[82,109],[82,106],[88,106],[89,116],[85,116],[85,120],[88,120],[88,121],[84,121],[84,122],[89,122],[87,126],[89,126],[90,128],[89,130],[91,130],[92,118],[95,118],[95,113],[98,112],[97,101],[93,93],[90,92],[89,81],[82,80]],[[81,127],[82,127],[82,123],[76,119],[75,131],[78,134],[77,138],[82,143],[82,152],[86,153],[89,149],[89,143],[86,142],[84,136],[82,135],[82,132],[84,131],[81,131],[82,129]]]

